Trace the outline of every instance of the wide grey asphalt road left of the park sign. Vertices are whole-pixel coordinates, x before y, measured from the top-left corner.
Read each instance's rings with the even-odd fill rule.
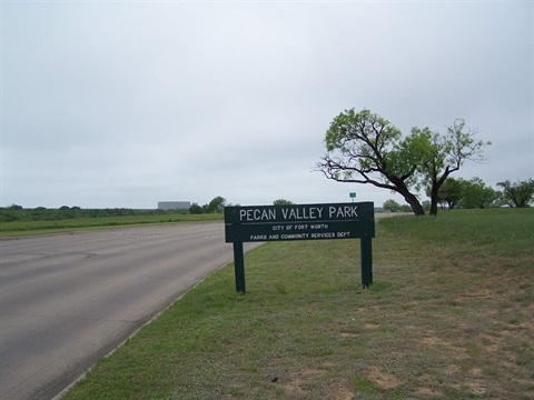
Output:
[[[53,398],[233,257],[222,223],[1,240],[0,398]]]

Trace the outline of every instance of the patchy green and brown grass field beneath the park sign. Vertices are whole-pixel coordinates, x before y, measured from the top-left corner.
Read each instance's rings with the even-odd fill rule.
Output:
[[[65,399],[533,399],[534,209],[270,242],[190,290]]]

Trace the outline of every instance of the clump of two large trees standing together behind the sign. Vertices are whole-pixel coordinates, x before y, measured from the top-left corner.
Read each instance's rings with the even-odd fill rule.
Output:
[[[484,147],[491,144],[475,140],[476,133],[457,119],[445,134],[414,127],[403,139],[389,121],[369,110],[345,110],[326,132],[328,153],[316,169],[339,182],[370,183],[398,192],[415,214],[426,209],[415,194],[426,186],[429,213],[435,216],[446,178],[466,160],[482,160]]]

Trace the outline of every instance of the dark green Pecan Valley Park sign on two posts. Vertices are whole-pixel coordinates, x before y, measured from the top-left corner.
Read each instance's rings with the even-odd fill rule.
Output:
[[[360,239],[362,284],[373,283],[373,202],[225,207],[226,242],[234,243],[236,291],[245,293],[244,242]]]

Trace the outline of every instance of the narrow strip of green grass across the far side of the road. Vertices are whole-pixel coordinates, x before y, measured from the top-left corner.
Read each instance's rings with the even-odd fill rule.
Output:
[[[181,223],[222,221],[221,213],[207,214],[160,214],[125,216],[99,218],[72,218],[52,221],[14,221],[0,224],[0,237],[30,236],[40,233],[61,233],[72,230],[105,229],[125,226],[144,226],[154,223]]]

